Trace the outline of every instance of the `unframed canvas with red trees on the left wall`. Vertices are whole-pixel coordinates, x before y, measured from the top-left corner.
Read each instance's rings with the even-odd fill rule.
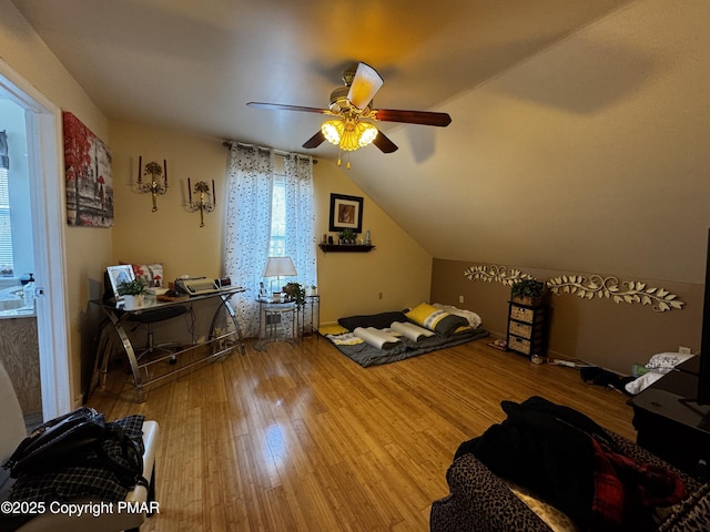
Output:
[[[67,222],[87,227],[113,225],[111,151],[72,113],[62,113]]]

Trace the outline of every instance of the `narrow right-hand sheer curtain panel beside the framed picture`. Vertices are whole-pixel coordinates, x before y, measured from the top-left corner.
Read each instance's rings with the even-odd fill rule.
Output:
[[[291,153],[284,157],[286,255],[293,259],[298,283],[317,285],[313,158]]]

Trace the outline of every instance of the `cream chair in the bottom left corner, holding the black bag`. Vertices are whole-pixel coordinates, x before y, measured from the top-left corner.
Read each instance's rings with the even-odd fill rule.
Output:
[[[27,436],[20,401],[14,392],[10,377],[0,362],[0,463],[4,463],[18,444]],[[129,489],[125,501],[131,504],[142,504],[155,500],[155,450],[158,449],[158,422],[143,422],[143,477],[149,481],[149,488],[135,485]],[[10,471],[0,468],[0,500],[7,500],[13,480]],[[87,502],[72,501],[72,502]],[[97,501],[97,498],[92,499]],[[115,507],[114,507],[115,508]],[[1,515],[0,515],[1,518]],[[31,519],[18,532],[119,532],[122,530],[138,532],[141,523],[145,521],[145,512],[128,513],[85,513],[82,516],[70,516],[65,513],[47,512]],[[1,523],[0,523],[1,524]]]

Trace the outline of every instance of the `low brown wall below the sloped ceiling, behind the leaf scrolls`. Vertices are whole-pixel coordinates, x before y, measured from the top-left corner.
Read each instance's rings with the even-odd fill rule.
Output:
[[[478,313],[483,327],[493,336],[505,338],[510,287],[496,282],[471,282],[464,276],[464,272],[478,265],[489,266],[485,263],[435,259],[432,299]],[[539,280],[579,274],[511,265],[507,267],[530,274]],[[589,277],[589,274],[585,275]],[[615,304],[606,298],[589,300],[570,294],[549,294],[550,356],[579,358],[629,375],[631,365],[646,364],[657,352],[677,351],[679,346],[690,347],[692,352],[700,350],[703,285],[623,277],[619,280],[643,282],[648,287],[663,288],[676,294],[686,305],[682,310],[656,313],[640,304]],[[463,305],[458,303],[459,296],[464,296]]]

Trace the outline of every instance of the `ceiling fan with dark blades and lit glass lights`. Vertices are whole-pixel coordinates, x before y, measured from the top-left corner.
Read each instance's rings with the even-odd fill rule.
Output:
[[[323,141],[337,145],[343,151],[354,151],[375,144],[383,153],[392,153],[397,145],[375,127],[372,122],[400,122],[405,124],[436,125],[446,127],[452,123],[447,113],[427,111],[405,111],[395,109],[373,109],[372,100],[382,88],[384,80],[375,69],[359,63],[357,70],[346,70],[343,83],[331,93],[328,109],[280,103],[248,102],[250,108],[302,111],[333,116],[321,130],[308,139],[303,147],[318,147]],[[339,161],[338,161],[339,162]]]

